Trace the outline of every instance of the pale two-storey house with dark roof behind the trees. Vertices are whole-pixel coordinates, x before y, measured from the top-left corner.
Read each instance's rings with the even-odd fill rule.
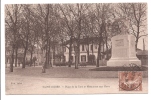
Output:
[[[96,59],[97,59],[97,55],[98,55],[98,37],[91,37],[91,38],[83,38],[80,39],[80,58],[79,61],[80,62],[89,62],[96,64]],[[73,39],[73,42],[75,40]],[[69,41],[66,41],[64,44],[64,59],[65,62],[69,61]],[[105,58],[106,56],[103,54],[103,52],[106,51],[106,46],[105,44],[101,45],[101,59]],[[103,57],[104,55],[104,57]],[[72,63],[75,62],[75,48],[74,45],[72,44],[72,53],[71,53],[71,60]]]

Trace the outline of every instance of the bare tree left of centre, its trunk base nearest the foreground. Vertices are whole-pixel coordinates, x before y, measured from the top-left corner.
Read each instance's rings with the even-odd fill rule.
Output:
[[[45,69],[53,66],[53,56],[55,55],[55,41],[59,33],[57,22],[57,7],[55,4],[38,4],[36,8],[36,17],[41,23],[42,35],[41,41],[43,50],[45,50],[45,63],[43,65],[43,73]],[[50,62],[51,59],[51,62]]]

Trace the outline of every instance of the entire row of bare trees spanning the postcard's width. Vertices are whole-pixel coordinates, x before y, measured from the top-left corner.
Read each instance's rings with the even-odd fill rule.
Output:
[[[111,45],[108,41],[113,33],[118,31],[113,28],[112,23],[119,18],[127,19],[130,26],[129,33],[136,37],[137,48],[139,38],[147,35],[146,9],[145,3],[5,5],[6,43],[10,42],[12,48],[10,71],[13,72],[18,48],[24,48],[22,68],[25,68],[27,51],[31,52],[32,58],[34,47],[38,45],[46,53],[43,67],[45,72],[51,65],[50,55],[55,51],[55,45],[66,40],[70,41],[68,66],[71,67],[71,51],[74,44],[75,68],[78,68],[80,39],[94,36],[99,38],[97,56],[97,67],[99,67],[101,45],[105,45],[108,50]],[[89,44],[87,42],[87,46]]]

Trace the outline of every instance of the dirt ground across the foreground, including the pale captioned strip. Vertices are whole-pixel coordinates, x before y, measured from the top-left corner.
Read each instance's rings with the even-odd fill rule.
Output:
[[[6,94],[100,94],[147,93],[148,78],[142,91],[119,91],[117,71],[90,71],[91,67],[54,67],[41,73],[41,67],[6,68]]]

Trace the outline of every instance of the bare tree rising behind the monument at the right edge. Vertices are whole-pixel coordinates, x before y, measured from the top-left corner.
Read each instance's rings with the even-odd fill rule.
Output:
[[[129,20],[130,33],[136,38],[135,48],[137,49],[138,40],[147,36],[147,4],[146,3],[124,3],[119,4],[120,17],[126,17]],[[116,13],[117,14],[117,13]]]

